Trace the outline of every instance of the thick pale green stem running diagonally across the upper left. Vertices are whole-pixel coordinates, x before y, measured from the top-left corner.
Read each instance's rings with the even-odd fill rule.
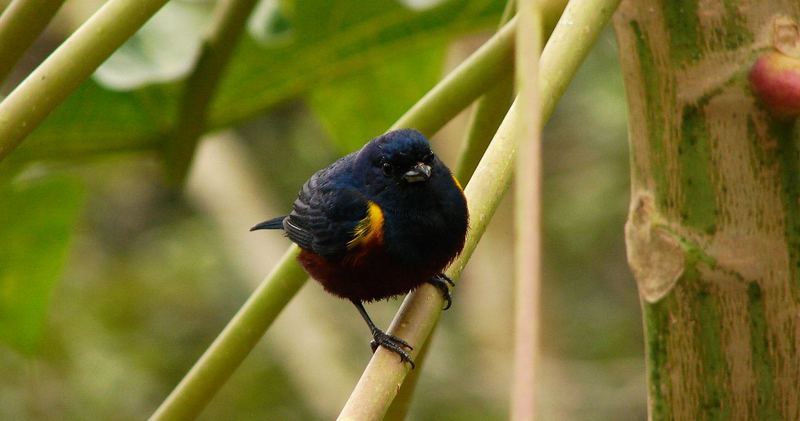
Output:
[[[111,0],[0,102],[0,161],[167,0]]]

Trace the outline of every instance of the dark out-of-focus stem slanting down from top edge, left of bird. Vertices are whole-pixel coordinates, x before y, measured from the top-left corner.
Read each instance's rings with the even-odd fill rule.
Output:
[[[197,142],[206,128],[208,105],[256,3],[258,0],[217,3],[214,21],[184,87],[175,134],[166,144],[167,170],[178,184],[186,178]]]

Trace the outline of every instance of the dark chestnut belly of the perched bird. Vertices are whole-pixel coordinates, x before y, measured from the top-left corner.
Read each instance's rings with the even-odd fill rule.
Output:
[[[405,294],[440,273],[447,261],[425,267],[399,265],[383,253],[357,259],[328,260],[307,250],[297,259],[331,294],[348,300],[375,301]]]

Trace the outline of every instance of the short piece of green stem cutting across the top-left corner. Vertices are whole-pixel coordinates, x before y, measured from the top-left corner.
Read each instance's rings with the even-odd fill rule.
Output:
[[[14,0],[0,15],[0,86],[64,0]]]

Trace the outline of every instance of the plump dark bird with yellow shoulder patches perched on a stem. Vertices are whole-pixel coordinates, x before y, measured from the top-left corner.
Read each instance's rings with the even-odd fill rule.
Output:
[[[469,215],[461,186],[418,131],[386,133],[318,171],[287,216],[250,230],[283,229],[300,264],[326,291],[353,302],[378,345],[413,361],[402,339],[378,329],[363,302],[423,283],[450,306],[444,268],[461,252]]]

